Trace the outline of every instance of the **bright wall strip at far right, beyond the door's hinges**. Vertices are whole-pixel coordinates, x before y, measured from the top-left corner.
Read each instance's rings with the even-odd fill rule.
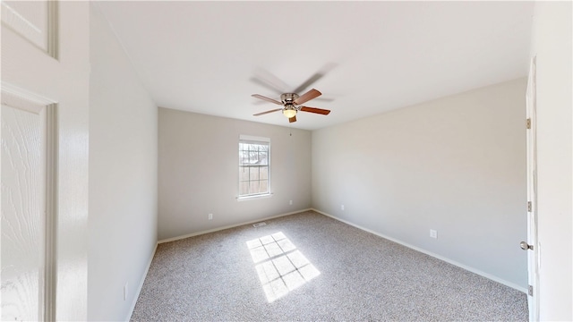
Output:
[[[571,2],[536,2],[540,318],[573,320]]]

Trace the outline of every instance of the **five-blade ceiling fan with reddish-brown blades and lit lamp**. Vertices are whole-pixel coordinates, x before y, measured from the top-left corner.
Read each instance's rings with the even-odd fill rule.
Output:
[[[299,111],[309,112],[309,113],[314,113],[314,114],[328,115],[330,113],[330,110],[325,110],[325,109],[316,108],[316,107],[309,107],[309,106],[301,106],[302,104],[310,101],[312,98],[320,97],[321,95],[322,95],[322,93],[316,89],[311,89],[311,90],[307,91],[306,93],[304,93],[302,96],[298,96],[298,94],[296,94],[296,93],[284,93],[280,96],[280,102],[279,102],[276,99],[264,97],[264,96],[259,95],[259,94],[252,94],[251,95],[252,97],[257,97],[257,98],[266,100],[270,103],[274,103],[274,104],[277,104],[279,106],[283,106],[282,108],[276,108],[274,110],[253,114],[253,116],[259,116],[262,114],[268,114],[268,113],[282,111],[283,114],[288,118],[288,122],[293,123],[293,122],[296,122],[296,113],[298,113]]]

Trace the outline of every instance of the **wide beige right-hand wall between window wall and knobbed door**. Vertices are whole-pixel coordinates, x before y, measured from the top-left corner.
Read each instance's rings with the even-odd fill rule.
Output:
[[[525,290],[525,94],[511,80],[313,131],[312,207]]]

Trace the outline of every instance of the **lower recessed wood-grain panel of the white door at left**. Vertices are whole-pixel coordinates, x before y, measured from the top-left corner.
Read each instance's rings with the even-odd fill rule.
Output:
[[[43,114],[2,106],[2,320],[44,316],[46,164]]]

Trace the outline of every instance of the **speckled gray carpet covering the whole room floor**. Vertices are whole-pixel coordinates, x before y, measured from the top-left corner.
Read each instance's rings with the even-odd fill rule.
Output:
[[[133,321],[526,321],[526,294],[305,212],[158,245]]]

